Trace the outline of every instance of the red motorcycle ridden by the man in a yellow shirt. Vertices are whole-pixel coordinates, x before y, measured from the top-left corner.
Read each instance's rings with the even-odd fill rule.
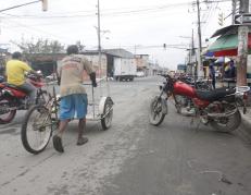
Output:
[[[37,88],[36,105],[45,103],[48,94],[42,89],[45,84],[41,77],[28,74],[27,80]],[[28,100],[27,94],[18,87],[0,83],[0,124],[10,123],[15,118],[16,110],[27,110]]]

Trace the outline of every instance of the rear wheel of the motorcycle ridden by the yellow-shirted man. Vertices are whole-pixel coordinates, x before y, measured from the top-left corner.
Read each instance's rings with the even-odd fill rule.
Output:
[[[9,98],[0,97],[0,108],[1,110],[9,109],[10,108],[11,100]],[[1,112],[1,111],[0,111]],[[0,113],[0,124],[7,124],[10,123],[16,114],[16,110],[10,110],[5,113]]]

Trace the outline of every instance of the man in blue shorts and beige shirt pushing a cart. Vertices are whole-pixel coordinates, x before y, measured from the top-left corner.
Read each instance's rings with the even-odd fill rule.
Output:
[[[77,145],[84,145],[88,142],[88,138],[83,136],[88,106],[87,94],[83,86],[84,71],[89,74],[92,86],[97,87],[96,73],[90,62],[84,56],[78,54],[77,46],[68,46],[67,54],[58,69],[61,95],[60,126],[53,136],[53,146],[59,153],[64,151],[62,135],[72,119],[79,120]]]

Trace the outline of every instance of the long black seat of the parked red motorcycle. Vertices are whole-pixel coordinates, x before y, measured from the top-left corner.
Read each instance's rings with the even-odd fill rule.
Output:
[[[196,89],[197,96],[202,100],[208,101],[215,101],[215,100],[222,100],[226,96],[235,95],[236,89],[235,88],[227,88],[227,87],[221,87],[216,88],[214,90],[200,90]]]

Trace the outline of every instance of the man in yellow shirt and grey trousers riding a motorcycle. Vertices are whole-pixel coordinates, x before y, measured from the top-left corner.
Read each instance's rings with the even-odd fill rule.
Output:
[[[30,98],[30,103],[33,105],[35,103],[37,89],[34,85],[26,82],[25,73],[30,72],[37,76],[39,76],[39,74],[34,71],[27,63],[21,61],[21,52],[16,51],[12,54],[12,60],[7,62],[7,82],[27,93]]]

